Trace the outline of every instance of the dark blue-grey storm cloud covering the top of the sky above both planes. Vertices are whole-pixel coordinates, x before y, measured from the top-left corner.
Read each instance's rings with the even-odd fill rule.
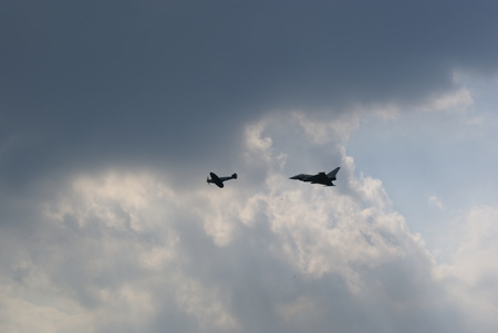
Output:
[[[1,183],[77,166],[214,164],[268,110],[450,89],[454,70],[496,70],[496,7],[4,1]]]

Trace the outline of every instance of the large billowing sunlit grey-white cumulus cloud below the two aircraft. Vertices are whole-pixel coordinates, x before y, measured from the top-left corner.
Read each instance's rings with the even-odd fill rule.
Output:
[[[446,269],[442,278],[382,183],[355,175],[344,148],[332,153],[342,166],[336,187],[288,179],[289,152],[277,143],[308,134],[279,137],[282,122],[276,132],[271,122],[247,128],[241,153],[267,169],[258,188],[238,179],[177,191],[160,174],[113,171],[75,176],[43,198],[31,208],[35,228],[1,236],[10,253],[1,327],[33,329],[23,316],[33,313],[40,332],[480,329],[464,325],[477,314],[445,284],[461,277]]]

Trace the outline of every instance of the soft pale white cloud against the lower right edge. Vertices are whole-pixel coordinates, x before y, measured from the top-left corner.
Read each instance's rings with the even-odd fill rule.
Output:
[[[448,291],[467,309],[469,326],[492,332],[498,325],[498,208],[475,206],[445,239],[453,249],[438,268]]]

